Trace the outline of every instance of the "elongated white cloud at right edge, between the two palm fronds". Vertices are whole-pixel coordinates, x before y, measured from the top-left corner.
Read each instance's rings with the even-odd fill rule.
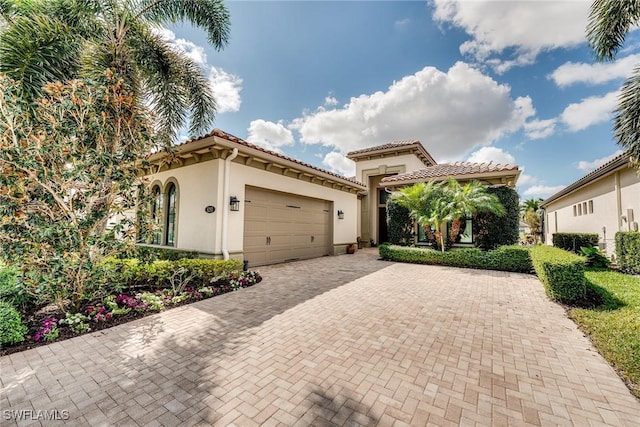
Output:
[[[548,78],[553,80],[559,87],[566,87],[575,83],[595,85],[629,77],[638,63],[640,63],[640,53],[625,56],[615,62],[608,63],[567,62],[556,68],[553,73],[549,74]]]

